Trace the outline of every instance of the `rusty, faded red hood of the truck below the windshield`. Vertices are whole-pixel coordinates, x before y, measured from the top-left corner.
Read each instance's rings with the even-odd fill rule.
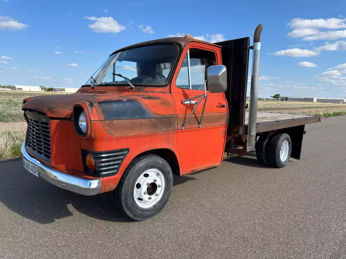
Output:
[[[108,94],[57,94],[46,96],[35,96],[25,98],[22,110],[34,110],[45,113],[48,117],[71,118],[73,105],[77,102],[95,103],[101,100],[109,100],[127,92]]]

